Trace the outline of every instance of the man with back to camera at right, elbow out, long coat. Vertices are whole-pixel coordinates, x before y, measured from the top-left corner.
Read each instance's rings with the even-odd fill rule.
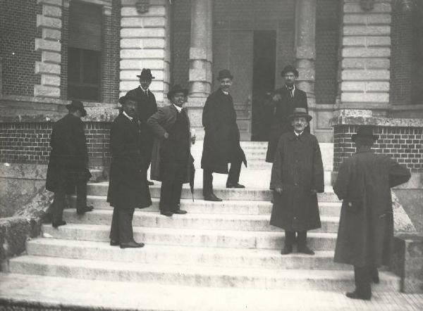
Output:
[[[410,170],[387,155],[372,151],[372,127],[353,134],[357,152],[339,168],[333,191],[343,200],[335,261],[354,265],[355,291],[349,298],[369,300],[370,281],[379,282],[377,267],[387,265],[393,237],[391,187],[410,179]]]

